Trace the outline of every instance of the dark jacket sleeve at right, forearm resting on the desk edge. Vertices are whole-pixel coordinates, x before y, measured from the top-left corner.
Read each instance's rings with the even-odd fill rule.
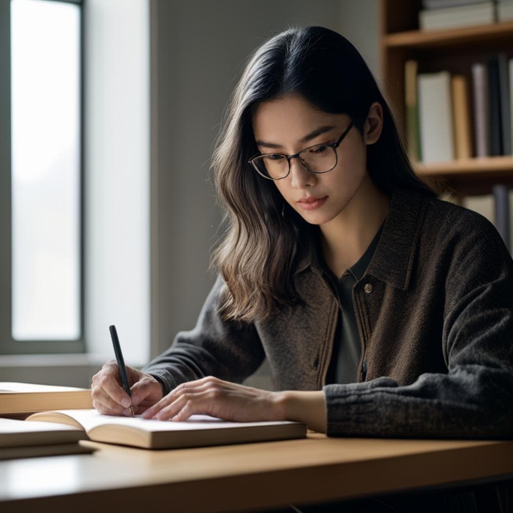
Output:
[[[513,261],[488,220],[472,221],[446,278],[448,372],[324,386],[328,436],[513,438]]]

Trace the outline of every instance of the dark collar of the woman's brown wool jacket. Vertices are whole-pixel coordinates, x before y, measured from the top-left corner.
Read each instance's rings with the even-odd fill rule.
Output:
[[[376,251],[364,275],[371,274],[393,287],[408,288],[418,239],[420,212],[425,195],[419,191],[396,187],[390,195],[383,231]],[[318,227],[312,227],[300,245],[298,265],[294,275],[308,267],[317,269],[312,237]]]

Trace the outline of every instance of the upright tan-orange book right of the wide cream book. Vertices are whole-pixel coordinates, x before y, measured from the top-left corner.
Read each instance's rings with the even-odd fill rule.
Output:
[[[465,75],[453,75],[451,77],[451,87],[455,157],[456,159],[470,159],[473,156],[473,150],[467,93],[468,84]]]

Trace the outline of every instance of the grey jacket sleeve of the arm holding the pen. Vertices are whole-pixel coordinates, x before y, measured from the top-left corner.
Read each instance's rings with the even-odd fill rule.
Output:
[[[142,369],[164,385],[165,394],[180,383],[205,376],[241,383],[263,362],[265,353],[254,325],[221,319],[223,284],[218,275],[196,326],[177,333],[171,347]]]

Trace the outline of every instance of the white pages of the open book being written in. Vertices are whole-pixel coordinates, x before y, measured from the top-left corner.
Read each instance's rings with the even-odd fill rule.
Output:
[[[143,419],[137,415],[135,417],[116,417],[113,415],[101,415],[95,409],[84,410],[55,410],[53,412],[35,413],[27,420],[37,420],[38,416],[44,415],[45,420],[55,419],[58,422],[58,416],[54,413],[61,413],[75,419],[86,431],[103,425],[121,425],[139,429],[142,431],[183,431],[193,429],[219,429],[234,427],[250,427],[250,426],[277,426],[283,424],[297,424],[293,421],[263,421],[263,422],[229,422],[208,415],[192,415],[185,421],[161,421]]]

